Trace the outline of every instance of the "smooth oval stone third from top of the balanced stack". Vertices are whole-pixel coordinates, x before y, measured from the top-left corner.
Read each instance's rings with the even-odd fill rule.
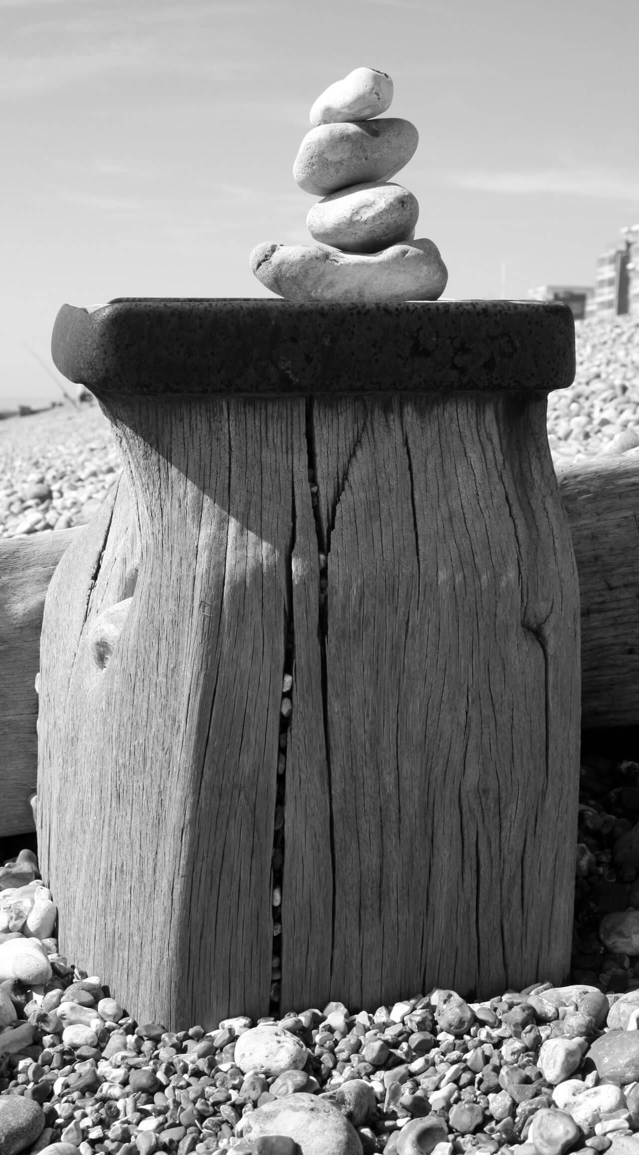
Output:
[[[347,253],[377,253],[413,237],[420,207],[403,185],[353,185],[310,209],[306,224],[314,240]]]

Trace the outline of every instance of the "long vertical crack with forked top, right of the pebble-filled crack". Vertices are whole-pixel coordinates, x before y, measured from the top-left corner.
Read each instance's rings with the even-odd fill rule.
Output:
[[[314,398],[309,397],[306,402],[306,447],[308,457],[308,477],[310,484],[310,477],[317,482],[317,453],[315,445],[315,424],[314,424]],[[325,573],[328,578],[328,566],[329,566],[329,551],[330,551],[330,534],[334,526],[334,519],[337,513],[337,507],[339,505],[339,499],[344,492],[344,486],[346,484],[346,478],[348,476],[348,465],[353,460],[356,446],[360,442],[361,434],[358,435],[353,452],[348,459],[346,469],[340,479],[339,492],[336,497],[331,509],[331,520],[326,527],[326,535],[324,537],[324,530],[322,528],[322,517],[320,514],[320,501],[314,499],[314,493],[310,494],[310,505],[313,509],[313,515],[315,519],[315,534],[317,537],[317,565],[320,567],[320,556],[323,554],[325,558]],[[328,694],[328,671],[326,671],[326,638],[329,633],[329,591],[326,588],[325,594],[320,591],[318,604],[317,604],[317,640],[320,643],[320,663],[321,663],[321,683],[322,683],[322,722],[324,726],[324,750],[326,751],[326,780],[329,785],[329,842],[331,852],[331,978],[333,974],[333,951],[334,951],[334,912],[336,912],[336,855],[334,855],[334,821],[333,821],[333,799],[332,799],[332,778],[331,778],[331,743],[329,733],[329,694]]]

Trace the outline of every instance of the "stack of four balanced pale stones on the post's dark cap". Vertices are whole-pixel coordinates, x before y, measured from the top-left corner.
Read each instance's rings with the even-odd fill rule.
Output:
[[[250,267],[287,300],[436,300],[448,273],[431,240],[414,240],[416,199],[389,184],[418,147],[409,120],[388,117],[393,84],[386,73],[355,68],[310,110],[293,177],[321,196],[307,226],[314,246],[257,245]]]

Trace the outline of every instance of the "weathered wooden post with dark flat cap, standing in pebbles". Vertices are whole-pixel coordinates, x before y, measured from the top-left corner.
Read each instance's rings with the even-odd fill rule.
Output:
[[[564,978],[570,311],[122,299],[63,306],[53,358],[112,423],[135,527],[123,549],[121,486],[45,605],[61,949],[138,1018],[266,1014],[284,818],[283,1011]]]

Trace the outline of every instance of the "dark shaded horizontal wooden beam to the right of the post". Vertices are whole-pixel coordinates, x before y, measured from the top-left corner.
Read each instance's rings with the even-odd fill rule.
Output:
[[[581,714],[639,724],[639,454],[557,468],[581,598]]]

